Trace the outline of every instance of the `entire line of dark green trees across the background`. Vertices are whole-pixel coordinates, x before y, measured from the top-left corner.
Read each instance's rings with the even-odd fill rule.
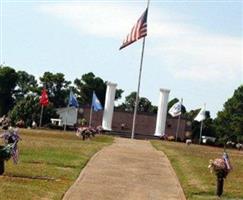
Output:
[[[73,82],[65,79],[63,73],[45,72],[36,77],[25,71],[16,71],[9,66],[0,66],[0,116],[8,115],[13,123],[24,120],[29,126],[34,120],[39,121],[40,105],[39,96],[42,88],[48,92],[49,105],[45,109],[43,124],[50,122],[51,117],[57,117],[55,108],[66,107],[70,90],[77,96],[79,105],[90,105],[92,93],[95,91],[102,105],[105,102],[106,81],[89,72],[76,78]],[[115,99],[122,97],[124,90],[117,89]],[[125,101],[118,105],[116,109],[125,112],[134,110],[136,92],[132,92],[125,97]],[[169,108],[179,101],[177,98],[168,103]],[[199,137],[199,122],[193,119],[200,109],[187,111],[182,107],[182,117],[191,122],[192,138]],[[157,106],[152,105],[146,97],[139,98],[138,111],[144,113],[156,113]],[[203,126],[203,134],[214,136],[219,140],[243,140],[243,85],[239,86],[232,97],[224,104],[223,110],[217,113],[217,117],[212,119],[210,112],[206,111],[206,119]]]

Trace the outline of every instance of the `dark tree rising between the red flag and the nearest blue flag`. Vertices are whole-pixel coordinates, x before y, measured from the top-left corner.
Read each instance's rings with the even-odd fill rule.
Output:
[[[40,81],[46,88],[49,100],[53,103],[54,107],[60,108],[67,106],[71,82],[65,80],[64,74],[45,72],[44,75],[40,77]],[[41,89],[39,92],[40,91]]]

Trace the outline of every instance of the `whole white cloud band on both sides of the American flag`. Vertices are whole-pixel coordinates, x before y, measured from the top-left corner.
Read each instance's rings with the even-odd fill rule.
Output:
[[[69,24],[82,35],[123,38],[129,33],[144,5],[118,3],[43,4],[40,10]],[[196,81],[225,81],[242,76],[241,38],[213,35],[185,16],[172,16],[152,8],[149,13],[151,54],[166,60],[175,78]],[[122,40],[122,39],[121,39]]]

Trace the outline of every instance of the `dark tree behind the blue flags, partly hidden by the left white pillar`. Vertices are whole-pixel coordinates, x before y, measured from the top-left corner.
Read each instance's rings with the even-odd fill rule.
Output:
[[[78,94],[78,101],[81,105],[90,105],[92,101],[92,94],[95,91],[101,104],[105,103],[106,82],[100,77],[96,77],[92,72],[82,75],[81,79],[74,81],[76,93]],[[115,99],[121,98],[123,90],[117,89]]]

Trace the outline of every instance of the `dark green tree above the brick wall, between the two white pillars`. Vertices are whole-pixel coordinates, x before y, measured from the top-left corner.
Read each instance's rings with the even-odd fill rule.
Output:
[[[120,109],[132,112],[135,108],[136,92],[131,92],[125,97],[125,102],[119,106]],[[138,103],[139,112],[155,112],[157,107],[153,106],[152,103],[146,97],[140,97]]]

